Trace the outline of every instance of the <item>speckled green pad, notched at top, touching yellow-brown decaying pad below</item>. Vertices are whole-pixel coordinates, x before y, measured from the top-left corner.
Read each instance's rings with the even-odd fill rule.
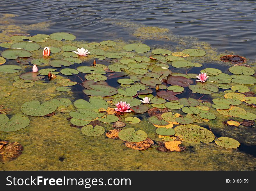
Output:
[[[135,131],[134,128],[126,128],[118,133],[118,137],[127,142],[140,142],[147,138],[147,133],[142,130]]]

